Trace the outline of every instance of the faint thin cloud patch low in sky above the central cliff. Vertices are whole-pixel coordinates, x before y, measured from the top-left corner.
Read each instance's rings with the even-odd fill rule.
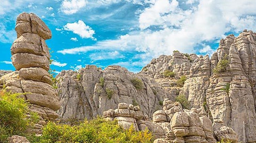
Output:
[[[124,55],[120,54],[118,51],[114,52],[101,52],[101,53],[93,53],[89,55],[91,60],[107,60],[107,59],[118,59],[118,58],[125,58]]]

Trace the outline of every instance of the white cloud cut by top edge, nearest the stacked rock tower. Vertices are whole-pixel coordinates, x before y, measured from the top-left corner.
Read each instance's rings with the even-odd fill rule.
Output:
[[[61,11],[65,14],[74,14],[86,6],[87,0],[64,0],[61,4]]]

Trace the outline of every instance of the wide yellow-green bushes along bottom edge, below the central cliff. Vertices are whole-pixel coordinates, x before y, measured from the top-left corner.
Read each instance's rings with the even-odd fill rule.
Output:
[[[47,123],[43,128],[40,143],[152,143],[152,134],[136,132],[133,127],[124,130],[118,122],[97,118],[85,120],[79,125]]]

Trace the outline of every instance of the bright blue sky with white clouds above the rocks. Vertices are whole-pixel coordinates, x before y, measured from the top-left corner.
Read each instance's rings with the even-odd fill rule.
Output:
[[[172,51],[211,55],[226,35],[256,31],[255,0],[1,0],[0,69],[14,70],[10,47],[21,12],[52,30],[46,40],[58,72],[121,65],[138,72]]]

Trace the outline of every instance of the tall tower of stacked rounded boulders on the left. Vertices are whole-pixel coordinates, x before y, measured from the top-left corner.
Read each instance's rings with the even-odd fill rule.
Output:
[[[55,112],[60,108],[58,94],[51,86],[52,80],[48,73],[50,54],[45,40],[52,37],[45,23],[31,13],[21,13],[17,17],[16,27],[18,38],[11,46],[11,60],[17,71],[0,78],[0,84],[7,91],[25,93],[30,110],[38,113],[40,122],[35,126],[40,133],[44,120],[54,120]],[[0,85],[0,86],[1,86]]]

